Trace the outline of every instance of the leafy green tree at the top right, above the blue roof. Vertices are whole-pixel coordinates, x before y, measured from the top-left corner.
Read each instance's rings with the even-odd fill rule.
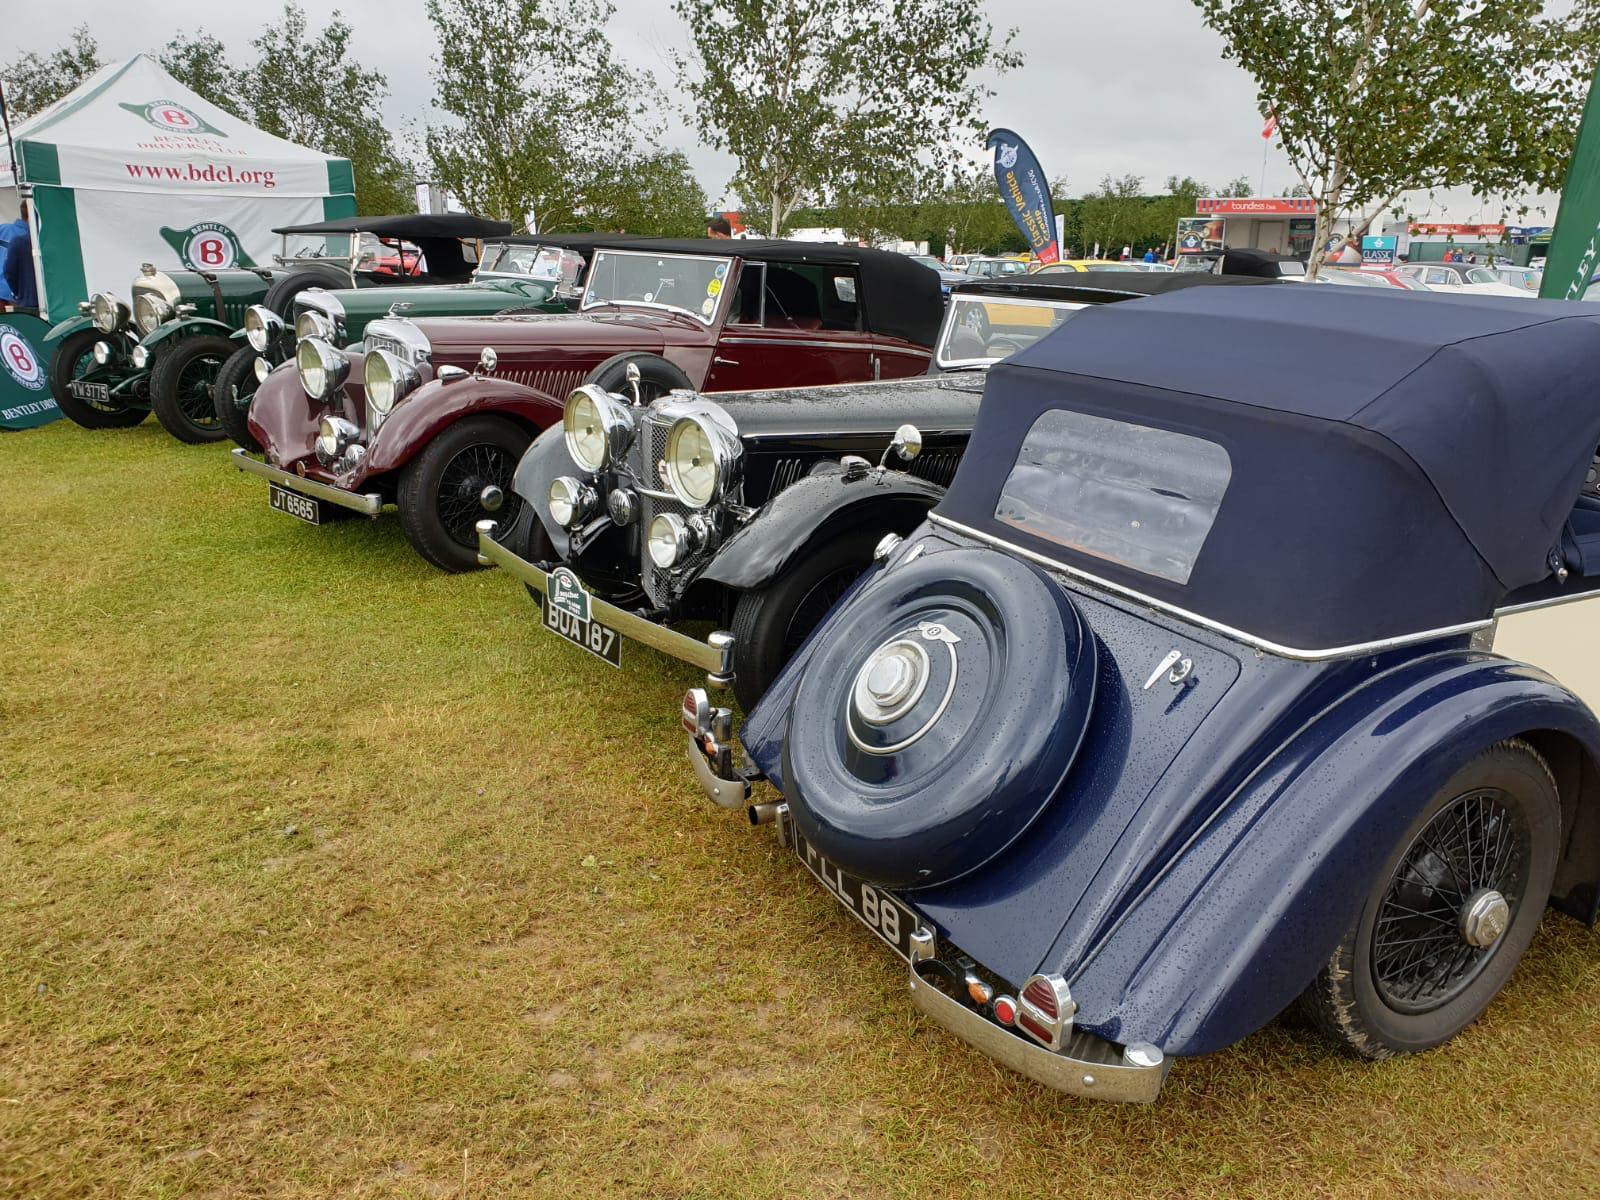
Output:
[[[1312,272],[1334,221],[1370,219],[1405,192],[1562,187],[1594,0],[1568,18],[1547,18],[1542,0],[1195,3],[1317,200]]]

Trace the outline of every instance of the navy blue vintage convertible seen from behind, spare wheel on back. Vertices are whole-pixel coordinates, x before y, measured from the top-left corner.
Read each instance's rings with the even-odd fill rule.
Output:
[[[1344,288],[1082,314],[741,741],[917,1008],[1150,1101],[1299,1000],[1387,1058],[1600,885],[1600,317]],[[1154,347],[1154,349],[1152,349]],[[1594,603],[1570,603],[1594,598]],[[1557,678],[1560,677],[1560,680]]]

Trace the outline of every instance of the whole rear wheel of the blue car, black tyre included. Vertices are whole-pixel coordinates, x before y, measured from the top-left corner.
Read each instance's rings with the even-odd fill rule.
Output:
[[[1301,1010],[1358,1058],[1453,1038],[1483,1014],[1533,941],[1560,826],[1555,779],[1531,746],[1483,750],[1400,837]]]

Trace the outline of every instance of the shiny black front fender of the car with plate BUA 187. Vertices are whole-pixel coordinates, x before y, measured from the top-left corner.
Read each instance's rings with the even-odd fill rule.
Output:
[[[813,546],[842,528],[882,526],[907,533],[928,509],[944,499],[944,488],[904,470],[846,472],[826,464],[797,480],[733,534],[701,571],[701,579],[747,592],[778,578]]]

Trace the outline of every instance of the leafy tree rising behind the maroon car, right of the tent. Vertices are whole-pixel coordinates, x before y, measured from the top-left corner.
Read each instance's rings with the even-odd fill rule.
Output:
[[[611,13],[610,0],[429,0],[448,120],[427,126],[427,155],[467,208],[555,230],[586,205],[626,205],[611,189],[654,133],[654,83],[618,62]]]

